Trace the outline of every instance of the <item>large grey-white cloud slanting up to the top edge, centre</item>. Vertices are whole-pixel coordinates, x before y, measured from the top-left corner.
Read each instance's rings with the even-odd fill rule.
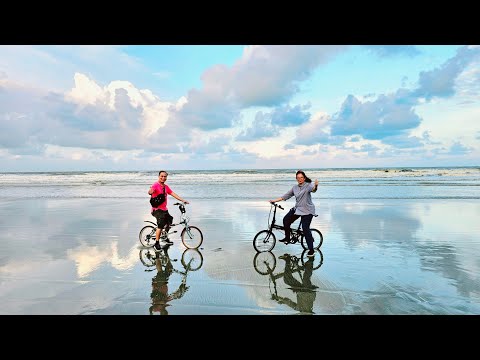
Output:
[[[299,91],[320,64],[346,46],[249,46],[232,66],[215,65],[202,75],[203,87],[188,92],[178,112],[181,121],[200,129],[230,127],[241,109],[276,106]]]

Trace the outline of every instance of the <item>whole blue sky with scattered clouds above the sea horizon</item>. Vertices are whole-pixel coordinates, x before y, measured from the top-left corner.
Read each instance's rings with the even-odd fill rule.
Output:
[[[477,45],[0,45],[0,171],[480,165]]]

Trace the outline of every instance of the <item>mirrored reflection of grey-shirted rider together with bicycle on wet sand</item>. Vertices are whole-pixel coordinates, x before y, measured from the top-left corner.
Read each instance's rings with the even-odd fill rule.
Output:
[[[312,257],[307,257],[302,265],[299,264],[300,258],[295,255],[284,254],[279,259],[285,261],[285,269],[283,272],[275,274],[276,266],[275,255],[271,252],[257,253],[254,257],[253,264],[255,270],[261,275],[269,276],[268,288],[270,290],[271,299],[279,304],[288,305],[294,310],[302,313],[313,314],[313,304],[316,297],[316,289],[318,286],[313,285],[311,276],[313,270],[320,268],[323,264],[323,255],[320,250],[317,262]],[[295,300],[287,296],[280,296],[277,290],[276,280],[283,278],[288,288],[295,294]]]

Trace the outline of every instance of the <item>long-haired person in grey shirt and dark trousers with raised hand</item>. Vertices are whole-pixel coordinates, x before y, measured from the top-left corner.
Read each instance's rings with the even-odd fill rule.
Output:
[[[283,226],[285,228],[285,238],[279,240],[284,243],[290,241],[290,225],[297,220],[299,217],[302,222],[303,234],[305,235],[305,240],[307,240],[308,245],[308,254],[307,256],[314,256],[313,251],[313,236],[312,231],[310,230],[310,224],[315,215],[315,205],[312,202],[312,192],[317,191],[318,180],[315,179],[315,183],[312,184],[312,180],[305,175],[302,170],[298,170],[296,173],[296,178],[298,185],[293,186],[290,191],[288,191],[282,197],[279,197],[275,200],[270,200],[270,203],[275,203],[281,200],[288,200],[295,195],[295,207],[290,209],[287,215],[283,218]]]

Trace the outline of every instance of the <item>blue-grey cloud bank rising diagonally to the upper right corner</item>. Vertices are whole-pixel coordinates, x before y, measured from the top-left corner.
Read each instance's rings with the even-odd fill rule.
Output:
[[[456,80],[470,64],[480,60],[479,56],[480,48],[465,46],[440,67],[421,72],[416,89],[401,88],[395,93],[380,95],[374,101],[361,102],[353,95],[347,96],[340,111],[332,116],[330,135],[384,139],[385,143],[401,148],[421,146],[419,138],[406,135],[408,130],[418,127],[422,121],[415,113],[415,107],[434,97],[453,96]],[[470,68],[470,74],[477,74],[476,68]]]

